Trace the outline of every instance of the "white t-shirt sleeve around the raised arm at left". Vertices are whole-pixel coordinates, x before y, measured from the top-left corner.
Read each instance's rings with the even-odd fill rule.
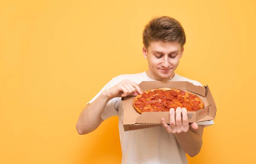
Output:
[[[93,99],[91,99],[87,105],[91,104],[93,101],[95,101],[99,95],[104,91],[107,90],[109,88],[112,88],[114,86],[114,79],[111,79],[111,81],[109,81],[100,91],[99,93],[96,94],[96,96],[93,97]],[[111,99],[106,107],[104,108],[101,118],[106,120],[111,116],[117,116],[118,115],[118,102],[117,102],[117,98],[113,98]]]

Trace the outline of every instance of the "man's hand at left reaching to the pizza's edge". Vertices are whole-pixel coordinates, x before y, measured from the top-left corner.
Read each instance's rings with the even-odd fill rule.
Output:
[[[125,79],[112,88],[105,90],[105,94],[108,99],[113,99],[115,97],[137,96],[142,94],[142,91],[135,82]]]

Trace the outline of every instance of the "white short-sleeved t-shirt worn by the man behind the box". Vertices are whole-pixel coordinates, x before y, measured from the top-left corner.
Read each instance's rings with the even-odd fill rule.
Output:
[[[142,81],[156,81],[149,78],[146,72],[138,74],[123,74],[111,79],[107,85],[90,101],[92,103],[102,91],[117,85],[124,79],[129,79],[132,82],[139,84]],[[180,76],[175,73],[175,76],[169,81],[188,81],[194,85],[201,83]],[[202,86],[202,85],[201,85]],[[108,119],[111,116],[119,118],[119,135],[122,148],[122,164],[187,164],[186,153],[178,144],[175,136],[172,133],[167,133],[162,127],[151,127],[140,130],[124,131],[121,121],[123,115],[121,98],[111,99],[106,105],[102,113],[102,119]],[[198,122],[198,125],[209,126],[214,124],[213,121]]]

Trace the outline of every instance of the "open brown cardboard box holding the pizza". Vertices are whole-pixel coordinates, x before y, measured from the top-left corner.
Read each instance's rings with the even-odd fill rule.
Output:
[[[186,81],[143,81],[139,86],[143,91],[157,88],[173,88],[195,93],[204,102],[204,109],[196,112],[187,112],[189,123],[215,119],[217,108],[208,85],[197,86]],[[138,113],[133,107],[134,96],[122,97],[122,101],[123,116],[121,119],[125,131],[162,126],[160,123],[161,118],[164,118],[166,122],[170,120],[169,112]]]

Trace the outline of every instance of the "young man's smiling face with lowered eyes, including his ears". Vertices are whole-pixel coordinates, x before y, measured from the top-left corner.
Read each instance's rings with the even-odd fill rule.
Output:
[[[178,42],[152,41],[148,49],[143,47],[144,57],[148,59],[148,76],[154,80],[172,79],[183,50]]]

